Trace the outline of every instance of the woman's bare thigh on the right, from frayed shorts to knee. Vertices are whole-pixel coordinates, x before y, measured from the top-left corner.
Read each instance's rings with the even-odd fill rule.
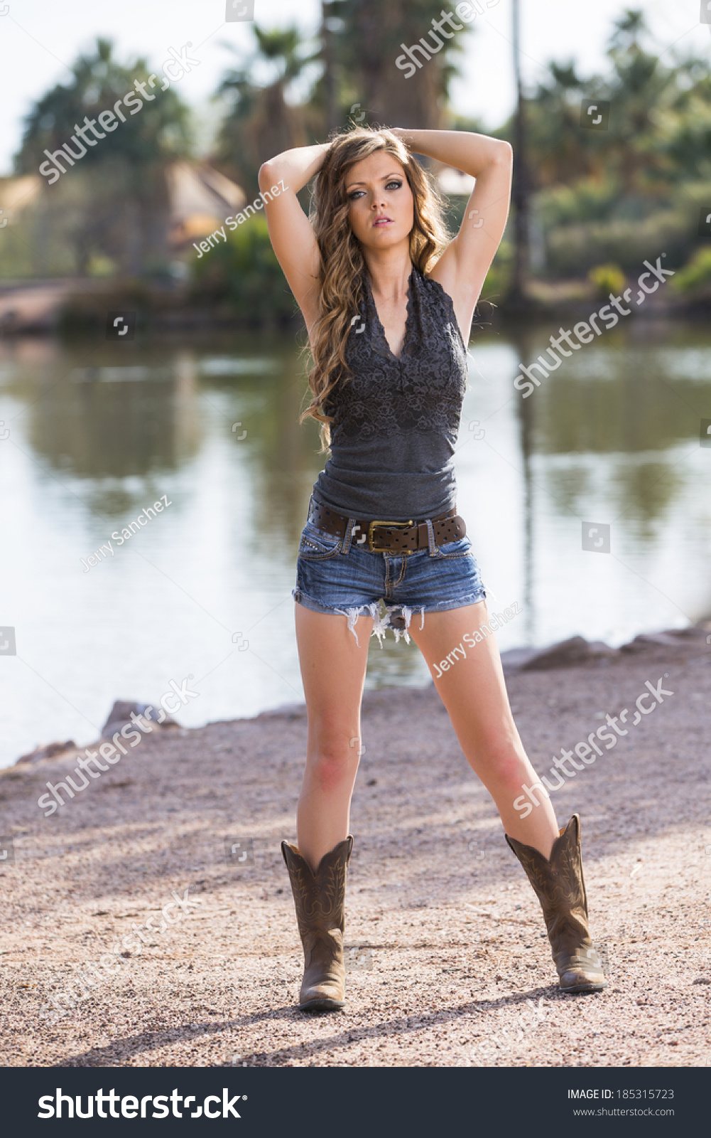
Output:
[[[427,612],[424,627],[410,625],[467,759],[487,783],[491,759],[524,756],[513,723],[495,637],[475,634],[487,620],[486,602]],[[465,640],[465,636],[468,638]],[[474,642],[474,643],[472,643]],[[487,762],[488,758],[488,762]]]

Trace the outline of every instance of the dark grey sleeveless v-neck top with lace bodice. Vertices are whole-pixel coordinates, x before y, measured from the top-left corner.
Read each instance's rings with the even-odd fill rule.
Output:
[[[455,504],[454,447],[469,369],[452,298],[415,265],[400,356],[377,314],[367,272],[345,343],[352,377],[326,401],[331,457],[313,497],[350,518],[433,518]]]

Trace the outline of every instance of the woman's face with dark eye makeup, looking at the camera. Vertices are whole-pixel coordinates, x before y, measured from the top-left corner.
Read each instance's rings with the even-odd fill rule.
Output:
[[[376,150],[345,175],[348,213],[353,233],[370,249],[407,241],[415,222],[412,190],[396,158]]]

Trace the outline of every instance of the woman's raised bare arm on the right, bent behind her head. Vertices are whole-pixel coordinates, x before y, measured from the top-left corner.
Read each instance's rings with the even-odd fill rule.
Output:
[[[476,179],[459,233],[450,241],[430,274],[452,297],[467,344],[474,310],[509,216],[513,151],[508,142],[470,131],[395,127],[394,133],[410,150]]]

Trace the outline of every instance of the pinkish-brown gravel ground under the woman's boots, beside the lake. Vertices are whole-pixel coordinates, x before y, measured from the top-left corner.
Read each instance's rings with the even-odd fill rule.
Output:
[[[645,681],[667,675],[674,692],[552,795],[559,824],[582,816],[605,992],[559,992],[538,904],[434,687],[387,688],[363,701],[336,1014],[294,1006],[302,957],[279,840],[295,841],[303,709],[156,728],[49,818],[36,800],[70,754],[1,772],[0,1062],[708,1066],[711,646],[699,629],[636,649],[508,677],[539,773],[605,712],[631,719]],[[173,891],[181,920],[56,1011],[132,923],[158,926]]]

